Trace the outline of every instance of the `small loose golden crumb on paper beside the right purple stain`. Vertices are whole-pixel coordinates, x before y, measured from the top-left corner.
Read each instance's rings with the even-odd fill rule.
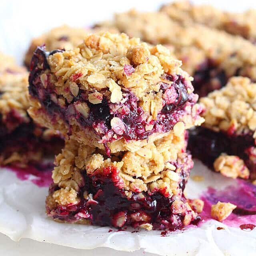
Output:
[[[223,221],[230,216],[234,209],[236,209],[236,205],[219,201],[212,205],[211,216],[218,221]]]

